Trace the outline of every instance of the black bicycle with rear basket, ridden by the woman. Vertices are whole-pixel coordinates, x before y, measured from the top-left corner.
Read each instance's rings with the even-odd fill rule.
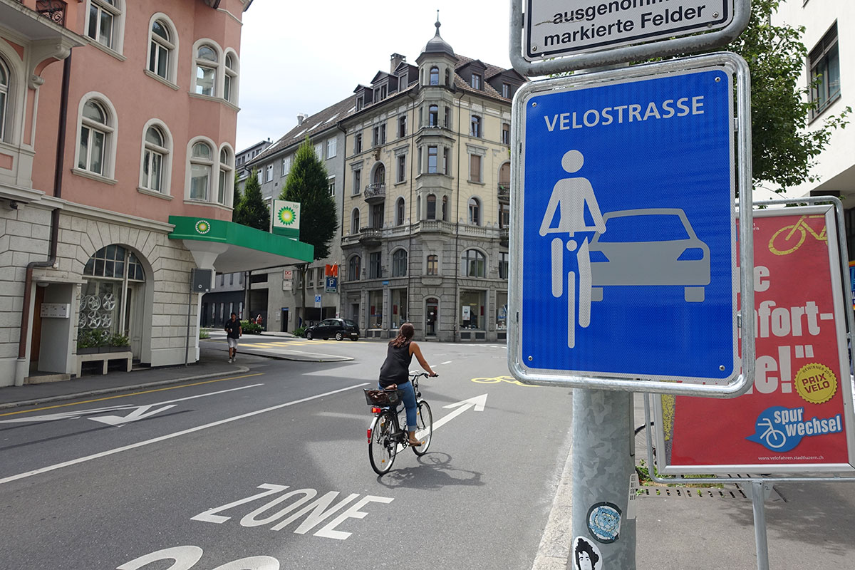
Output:
[[[433,437],[433,414],[430,406],[422,398],[419,391],[419,379],[428,377],[427,372],[411,372],[410,381],[416,392],[416,438],[422,441],[422,445],[413,447],[413,453],[422,456],[428,453],[431,438]],[[398,390],[366,390],[365,401],[371,406],[374,420],[368,429],[369,438],[369,461],[371,468],[378,475],[388,473],[395,461],[398,451],[410,447],[410,436],[406,429],[402,428],[400,414],[404,411],[404,403]]]

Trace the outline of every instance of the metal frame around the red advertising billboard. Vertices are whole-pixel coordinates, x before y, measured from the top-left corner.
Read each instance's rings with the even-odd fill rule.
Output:
[[[840,272],[835,273],[834,267],[832,267],[832,275],[831,275],[831,285],[833,291],[838,291],[838,295],[834,297],[834,304],[842,305],[842,309],[840,313],[845,315],[843,319],[836,319],[835,326],[838,328],[845,326],[846,331],[843,335],[842,347],[840,350],[840,358],[846,357],[846,342],[851,342],[852,340],[852,332],[855,331],[855,314],[853,311],[848,308],[848,303],[846,300],[848,299],[849,294],[849,285],[844,280],[843,272],[848,269],[849,256],[846,251],[846,227],[844,226],[844,217],[843,217],[843,204],[840,202],[839,198],[836,197],[804,197],[804,198],[783,198],[780,200],[769,200],[764,202],[754,203],[755,206],[772,206],[772,205],[799,205],[799,204],[808,204],[807,208],[802,208],[798,210],[787,209],[785,214],[801,214],[801,213],[823,213],[823,214],[831,214],[831,209],[828,206],[828,203],[831,202],[834,204],[834,217],[836,227],[836,235],[834,236],[837,246],[837,255],[839,259],[837,261],[840,262]],[[824,207],[821,204],[825,204]],[[828,227],[828,225],[826,226]],[[829,244],[830,249],[830,244]],[[832,251],[829,251],[829,256],[834,255]],[[846,265],[843,265],[843,264]],[[840,314],[836,314],[835,316],[840,317]],[[847,359],[850,363],[852,362],[851,356]],[[846,368],[848,369],[848,368]],[[844,369],[844,373],[846,372]],[[728,477],[715,477],[710,479],[698,479],[697,474],[715,474],[720,473],[727,475],[729,473],[773,473],[775,474],[775,481],[832,481],[839,480],[839,477],[828,478],[828,477],[817,477],[800,475],[798,473],[853,473],[855,472],[855,410],[853,410],[853,394],[855,394],[855,377],[850,376],[849,381],[846,382],[843,379],[840,379],[840,390],[843,395],[843,408],[846,413],[846,450],[849,456],[849,464],[839,464],[839,463],[828,463],[828,464],[747,464],[747,465],[702,465],[702,466],[675,466],[667,463],[666,458],[663,457],[662,454],[655,458],[655,465],[657,467],[658,473],[663,473],[665,475],[684,475],[684,474],[695,474],[696,476],[692,479],[686,479],[683,477],[675,477],[673,479],[657,479],[655,476],[652,476],[652,479],[657,482],[667,482],[667,483],[679,483],[681,481],[691,481],[692,483],[744,483],[746,478],[728,478]],[[651,424],[650,417],[650,408],[651,408],[651,399],[653,400],[653,412],[654,412],[654,420]],[[655,429],[655,435],[651,433],[650,430],[647,430],[647,450],[648,455],[650,454],[651,445],[653,445],[654,449],[665,450],[665,431],[663,429],[665,422],[663,421],[663,406],[662,406],[662,398],[647,395],[645,396],[645,417],[646,417],[646,426],[653,425]],[[655,437],[655,440],[653,439]],[[649,457],[650,465],[654,465],[654,458]],[[793,474],[797,473],[797,474]],[[757,479],[769,479],[764,477],[759,477]],[[855,480],[855,479],[847,479],[847,480]]]

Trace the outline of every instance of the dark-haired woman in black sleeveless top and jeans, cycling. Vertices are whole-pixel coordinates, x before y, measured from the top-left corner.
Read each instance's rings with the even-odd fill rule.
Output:
[[[410,445],[418,447],[422,445],[416,439],[416,391],[410,382],[410,361],[413,355],[431,376],[439,376],[422,356],[419,345],[412,341],[416,329],[410,323],[404,323],[398,330],[398,336],[389,341],[389,350],[386,351],[386,361],[380,367],[380,388],[398,388],[401,398],[404,400],[404,408],[407,410],[407,429],[410,432]]]

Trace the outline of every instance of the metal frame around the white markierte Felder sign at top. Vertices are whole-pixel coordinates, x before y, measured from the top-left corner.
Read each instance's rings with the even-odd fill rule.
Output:
[[[574,53],[566,56],[550,52],[546,57],[553,57],[547,61],[530,61],[540,59],[538,57],[526,58],[523,54],[522,37],[525,32],[525,18],[523,3],[534,0],[511,0],[510,1],[510,41],[509,56],[510,63],[525,77],[538,77],[550,73],[563,73],[575,71],[576,69],[598,68],[624,62],[639,62],[652,57],[676,56],[680,54],[692,54],[699,51],[712,50],[732,42],[739,37],[740,33],[748,26],[751,18],[750,0],[732,0],[733,19],[727,26],[712,32],[696,33],[694,35],[664,40],[650,41],[640,38],[629,45],[616,48],[592,47],[590,50]],[[638,43],[646,42],[646,43]]]

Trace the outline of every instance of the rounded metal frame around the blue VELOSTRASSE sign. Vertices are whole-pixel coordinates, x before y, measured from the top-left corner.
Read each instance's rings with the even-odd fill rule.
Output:
[[[754,320],[752,312],[741,309],[742,373],[734,366],[734,374],[722,382],[705,384],[681,383],[681,377],[657,376],[639,378],[637,374],[597,373],[585,376],[571,371],[555,371],[529,368],[522,357],[522,270],[523,270],[523,211],[525,197],[525,107],[529,97],[555,91],[559,85],[572,85],[575,89],[606,85],[614,82],[626,82],[655,78],[668,73],[687,73],[696,70],[721,68],[735,79],[736,91],[736,128],[735,156],[736,185],[740,188],[743,201],[740,202],[740,235],[748,236],[740,240],[740,294],[746,300],[743,307],[753,307],[753,272],[745,267],[753,267],[753,244],[751,208],[742,204],[751,203],[751,102],[750,75],[745,60],[729,53],[716,53],[695,56],[680,60],[657,62],[630,68],[620,68],[596,73],[576,74],[567,78],[547,79],[530,83],[517,91],[514,97],[511,139],[511,220],[510,220],[510,286],[509,286],[509,338],[508,366],[516,379],[534,385],[557,385],[564,387],[582,387],[599,390],[649,391],[687,396],[735,397],[746,391],[754,378]],[[747,202],[746,202],[747,201]],[[735,227],[732,227],[734,232]],[[732,234],[734,239],[735,235]],[[733,242],[732,242],[733,243]],[[735,260],[734,260],[735,261]],[[735,292],[734,292],[735,294]],[[734,324],[736,315],[734,315]],[[734,327],[735,328],[735,327]],[[530,333],[530,332],[529,332]],[[735,335],[735,330],[734,330]],[[737,342],[734,338],[734,344]],[[736,363],[734,363],[735,365]]]

